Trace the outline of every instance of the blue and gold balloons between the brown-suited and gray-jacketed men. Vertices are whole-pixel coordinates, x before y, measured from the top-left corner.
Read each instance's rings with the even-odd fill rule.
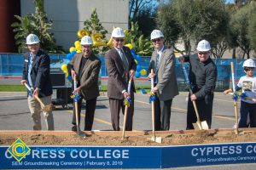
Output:
[[[139,78],[139,77],[141,77],[141,76],[147,75],[147,71],[146,71],[145,69],[142,69],[142,66],[139,65],[139,62],[141,61],[141,56],[135,54],[135,50],[133,49],[131,43],[127,43],[127,44],[125,44],[125,46],[126,46],[127,48],[130,48],[130,49],[131,49],[132,57],[133,57],[133,59],[135,60],[135,63],[137,64],[137,69],[136,69],[136,72],[135,72],[135,74],[134,74],[134,77]]]

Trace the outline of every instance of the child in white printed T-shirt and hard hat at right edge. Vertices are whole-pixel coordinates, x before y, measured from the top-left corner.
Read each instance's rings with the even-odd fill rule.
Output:
[[[241,98],[241,116],[238,127],[256,127],[256,77],[253,77],[256,65],[253,59],[247,59],[242,67],[246,76],[239,79],[236,91],[242,90],[246,98]],[[228,89],[224,91],[224,94],[231,92],[232,90]]]

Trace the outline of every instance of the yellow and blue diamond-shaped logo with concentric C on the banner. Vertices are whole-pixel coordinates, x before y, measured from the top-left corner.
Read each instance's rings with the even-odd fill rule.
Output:
[[[17,161],[21,161],[30,150],[31,149],[20,138],[16,139],[16,141],[8,148],[8,152],[14,156]]]

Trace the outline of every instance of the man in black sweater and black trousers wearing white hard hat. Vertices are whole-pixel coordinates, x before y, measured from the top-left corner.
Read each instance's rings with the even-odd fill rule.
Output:
[[[213,91],[217,80],[217,67],[210,58],[211,45],[207,40],[197,44],[197,54],[185,55],[179,58],[182,62],[189,62],[189,82],[193,94],[189,94],[187,110],[187,129],[194,129],[196,122],[195,101],[201,122],[207,121],[208,127],[212,125]]]

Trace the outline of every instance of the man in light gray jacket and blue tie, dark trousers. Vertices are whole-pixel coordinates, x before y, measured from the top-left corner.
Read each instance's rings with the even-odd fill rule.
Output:
[[[164,35],[159,30],[151,32],[151,41],[155,51],[152,54],[148,72],[148,78],[154,78],[154,88],[151,90],[156,94],[154,102],[154,126],[155,130],[169,130],[172,99],[178,94],[177,79],[175,74],[175,56],[173,51],[164,45]]]

